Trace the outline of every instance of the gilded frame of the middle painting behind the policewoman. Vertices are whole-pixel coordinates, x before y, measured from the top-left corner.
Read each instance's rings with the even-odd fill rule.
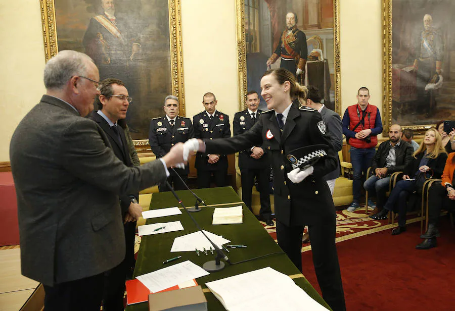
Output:
[[[247,83],[247,40],[245,31],[245,2],[248,0],[236,0],[236,37],[237,37],[237,67],[238,67],[238,84],[239,84],[239,110],[244,110],[245,105],[245,94],[248,92]],[[257,1],[257,0],[256,0]],[[299,1],[301,8],[305,5],[306,1]],[[322,6],[319,0],[312,1],[317,6]],[[327,3],[327,1],[325,1]],[[296,11],[296,10],[294,10]],[[298,15],[299,10],[296,12]],[[321,10],[316,13],[316,17],[321,18]],[[283,17],[284,18],[284,17]],[[307,16],[303,17],[303,19]],[[317,18],[316,18],[317,19]],[[299,17],[301,20],[301,17]],[[309,21],[305,21],[305,24],[310,24]],[[312,29],[317,29],[319,25],[310,25]],[[321,28],[321,27],[319,27]],[[309,31],[302,29],[302,31]],[[315,41],[321,42],[319,35],[307,35],[307,40],[314,38]],[[325,39],[324,39],[325,40]],[[332,72],[333,70],[333,72]],[[333,90],[331,88],[331,102],[332,109],[341,116],[341,72],[340,72],[340,12],[339,12],[339,0],[333,0],[333,68],[331,68],[331,81],[333,83]],[[258,91],[259,92],[259,91]],[[332,93],[333,92],[333,93]],[[323,95],[323,94],[322,94]],[[324,95],[323,95],[324,97]],[[329,105],[327,105],[329,107]]]

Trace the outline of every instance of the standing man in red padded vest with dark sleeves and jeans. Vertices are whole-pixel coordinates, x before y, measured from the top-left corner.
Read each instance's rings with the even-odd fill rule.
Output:
[[[357,210],[361,196],[362,179],[367,176],[378,143],[377,135],[382,133],[382,121],[379,109],[370,105],[370,91],[361,87],[357,91],[357,103],[349,106],[343,116],[343,134],[351,146],[351,163],[354,170],[352,182],[353,200],[348,212]],[[362,176],[363,173],[363,176]],[[368,205],[375,208],[369,200]]]

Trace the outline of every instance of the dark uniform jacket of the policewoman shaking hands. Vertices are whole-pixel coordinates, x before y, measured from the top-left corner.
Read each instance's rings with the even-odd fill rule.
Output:
[[[273,110],[263,112],[256,124],[245,133],[229,139],[205,140],[206,152],[234,153],[252,145],[262,145],[271,153],[274,167],[275,215],[287,226],[331,223],[336,215],[330,189],[324,175],[336,168],[335,151],[325,133],[321,114],[310,108],[289,110],[280,132]],[[320,129],[320,128],[324,128]],[[301,183],[287,178],[292,170],[287,152],[308,145],[326,144],[327,157],[314,165],[314,172]]]

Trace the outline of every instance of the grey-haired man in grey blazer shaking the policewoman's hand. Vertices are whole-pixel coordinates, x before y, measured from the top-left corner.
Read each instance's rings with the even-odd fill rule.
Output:
[[[166,166],[183,162],[181,144],[141,167],[118,160],[101,127],[83,118],[98,80],[88,56],[60,51],[44,68],[46,94],[11,139],[22,274],[43,283],[47,311],[100,310],[104,274],[125,257],[117,194],[162,182]]]

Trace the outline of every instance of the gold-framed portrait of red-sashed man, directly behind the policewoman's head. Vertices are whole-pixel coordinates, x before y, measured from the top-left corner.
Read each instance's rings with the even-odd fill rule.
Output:
[[[341,111],[338,0],[237,0],[239,85],[260,93],[269,68],[283,67],[314,85],[324,104]],[[240,16],[240,18],[239,18]],[[261,98],[259,108],[266,109]]]

